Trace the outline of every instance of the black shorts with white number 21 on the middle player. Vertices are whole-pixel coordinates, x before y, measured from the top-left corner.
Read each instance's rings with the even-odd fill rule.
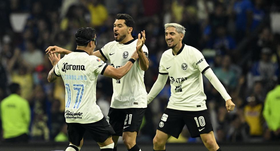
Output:
[[[115,130],[114,136],[123,136],[123,132],[137,132],[140,129],[146,108],[110,108],[107,121]]]

